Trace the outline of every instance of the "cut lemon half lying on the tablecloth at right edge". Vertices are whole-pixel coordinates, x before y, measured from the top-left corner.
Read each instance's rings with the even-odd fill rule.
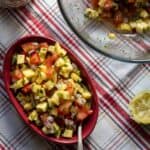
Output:
[[[129,103],[131,117],[137,123],[150,124],[150,91],[142,91]]]

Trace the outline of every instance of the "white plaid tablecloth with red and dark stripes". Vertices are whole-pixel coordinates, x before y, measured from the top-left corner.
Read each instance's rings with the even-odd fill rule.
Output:
[[[99,96],[99,118],[85,150],[149,150],[150,128],[130,119],[128,103],[150,89],[148,64],[128,64],[91,51],[65,23],[56,0],[35,0],[17,10],[0,9],[0,70],[7,48],[26,34],[54,36],[88,69]],[[76,145],[49,143],[28,128],[13,108],[0,79],[0,150],[70,150]]]

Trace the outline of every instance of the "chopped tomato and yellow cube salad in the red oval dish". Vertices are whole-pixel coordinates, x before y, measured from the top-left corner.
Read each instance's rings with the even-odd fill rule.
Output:
[[[45,134],[72,138],[93,113],[91,92],[78,66],[59,45],[29,42],[13,55],[11,89],[28,119]]]

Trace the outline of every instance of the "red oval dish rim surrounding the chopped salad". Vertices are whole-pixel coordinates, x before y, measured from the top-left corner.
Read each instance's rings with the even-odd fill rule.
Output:
[[[51,141],[51,142],[56,142],[60,144],[73,144],[77,143],[77,135],[74,135],[71,139],[65,139],[65,138],[55,138],[51,137],[50,135],[45,135],[36,125],[34,125],[32,122],[30,122],[26,116],[26,113],[24,112],[22,106],[18,102],[18,100],[15,98],[13,92],[10,89],[10,70],[11,70],[11,61],[12,61],[12,56],[15,53],[17,49],[20,48],[20,45],[25,43],[25,42],[47,42],[49,44],[54,44],[56,41],[50,37],[42,37],[42,36],[36,36],[36,35],[30,35],[23,37],[16,41],[7,51],[7,54],[4,59],[4,66],[3,66],[3,75],[4,75],[4,82],[5,82],[5,87],[6,91],[9,95],[10,101],[18,111],[19,115],[21,118],[25,121],[25,123],[30,126],[31,129],[33,129],[36,133],[38,133],[40,136],[42,136],[44,139]],[[82,77],[86,81],[90,91],[92,92],[92,109],[94,113],[90,115],[84,122],[83,122],[83,130],[82,130],[82,137],[85,139],[90,135],[90,133],[93,131],[97,118],[98,118],[98,97],[96,94],[95,87],[92,83],[92,79],[89,75],[89,73],[86,71],[85,67],[82,65],[82,62],[71,52],[68,48],[66,48],[63,44],[60,44],[68,53],[69,57],[71,60],[77,64],[79,69],[81,70]]]

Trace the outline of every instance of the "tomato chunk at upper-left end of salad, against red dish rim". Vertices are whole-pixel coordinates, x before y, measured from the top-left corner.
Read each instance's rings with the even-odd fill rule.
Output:
[[[25,53],[31,51],[31,50],[36,50],[39,48],[39,44],[36,42],[29,42],[21,45],[22,49],[24,50]]]

